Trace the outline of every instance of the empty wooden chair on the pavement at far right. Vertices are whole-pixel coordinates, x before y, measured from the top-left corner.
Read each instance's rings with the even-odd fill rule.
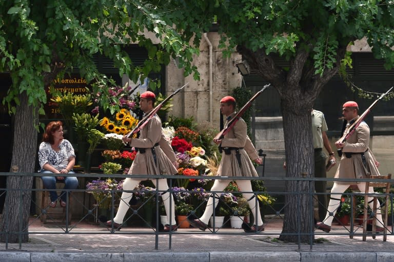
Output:
[[[371,179],[391,179],[391,174],[388,175],[371,175],[369,178]],[[369,187],[373,188],[382,188],[383,193],[373,193],[373,194],[368,194],[369,192]],[[365,191],[366,193],[358,193],[356,195],[353,195],[353,206],[352,206],[352,212],[353,212],[353,218],[356,215],[356,205],[357,205],[357,199],[356,197],[358,195],[362,195],[364,197],[364,209],[363,209],[363,241],[366,240],[367,237],[367,224],[368,220],[372,219],[372,238],[376,238],[376,214],[377,212],[381,212],[382,218],[383,218],[383,226],[384,226],[384,231],[383,231],[383,241],[387,240],[387,215],[388,215],[388,201],[389,201],[389,192],[390,192],[390,182],[366,182],[365,183]],[[371,212],[371,217],[368,217],[368,197],[373,198],[373,208]],[[378,197],[384,197],[384,203],[380,203],[380,207],[377,206],[378,203]],[[383,212],[382,212],[383,211]],[[384,217],[383,217],[384,215]],[[351,231],[353,231],[354,228],[354,223],[351,223]],[[352,235],[350,235],[350,238],[353,238]]]

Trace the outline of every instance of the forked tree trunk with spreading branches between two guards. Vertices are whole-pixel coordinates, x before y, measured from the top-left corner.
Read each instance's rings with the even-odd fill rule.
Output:
[[[264,49],[252,51],[239,45],[237,51],[242,53],[250,68],[271,83],[281,96],[286,177],[313,177],[314,152],[310,111],[323,86],[338,72],[346,53],[346,45],[337,49],[337,63],[331,69],[324,69],[322,75],[314,74],[314,60],[308,52],[313,46],[310,43],[297,43],[297,46],[300,48],[297,48],[290,59],[288,70],[275,65],[272,56],[267,55]],[[313,201],[309,192],[314,191],[314,183],[288,180],[286,189],[289,195],[285,196],[285,220],[280,239],[293,243],[309,242],[310,235],[307,234],[313,234],[314,226]],[[286,235],[289,233],[307,234],[299,239],[297,235]]]

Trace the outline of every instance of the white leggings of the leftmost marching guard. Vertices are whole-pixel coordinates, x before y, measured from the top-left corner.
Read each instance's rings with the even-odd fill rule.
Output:
[[[155,183],[156,180],[153,180],[153,184]],[[138,178],[126,178],[125,182],[123,183],[123,189],[124,190],[133,190],[139,183],[141,182],[141,179]],[[168,184],[167,184],[167,179],[158,179],[157,180],[157,190],[160,191],[167,191],[168,190]],[[113,218],[113,221],[117,224],[122,224],[123,223],[123,218],[125,217],[127,210],[129,209],[129,201],[131,197],[133,196],[132,192],[123,192],[122,197],[121,197],[121,203],[119,204],[119,209],[116,212],[116,216]],[[162,199],[163,199],[163,204],[164,208],[166,209],[166,214],[167,214],[167,224],[168,220],[170,218],[169,214],[171,214],[171,225],[176,225],[175,222],[175,211],[174,211],[174,198],[169,192],[162,193]],[[170,199],[171,199],[171,210],[170,210]]]

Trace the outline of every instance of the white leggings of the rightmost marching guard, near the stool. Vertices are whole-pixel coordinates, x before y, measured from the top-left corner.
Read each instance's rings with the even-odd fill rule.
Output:
[[[359,190],[363,193],[365,193],[365,182],[363,183],[359,183],[357,184]],[[341,200],[341,196],[342,193],[346,191],[346,189],[350,187],[350,185],[340,185],[338,183],[334,183],[334,185],[332,186],[331,189],[331,198],[330,198],[330,203],[328,204],[328,208],[327,208],[327,214],[326,217],[324,218],[323,223],[326,224],[327,226],[331,226],[332,224],[332,219],[335,216],[335,213],[337,213],[337,209],[340,205]],[[368,193],[373,193],[373,187],[369,187],[368,189]],[[368,197],[368,206],[372,209],[373,208],[373,203],[371,202],[373,198],[372,197]],[[378,200],[378,207],[380,207],[380,203]],[[332,212],[332,216],[330,216],[330,213]],[[383,227],[382,224],[382,214],[381,213],[376,213],[376,219],[377,219],[377,226],[379,227]]]

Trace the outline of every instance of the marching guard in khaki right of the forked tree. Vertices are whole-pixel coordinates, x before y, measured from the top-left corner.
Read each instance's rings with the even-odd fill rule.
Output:
[[[343,105],[342,114],[348,121],[346,128],[348,128],[354,120],[359,118],[359,106],[356,102],[349,101]],[[346,129],[345,129],[346,133]],[[341,143],[341,139],[335,143],[336,147],[342,149],[342,157],[339,163],[335,178],[367,178],[368,175],[380,175],[378,167],[379,163],[373,156],[369,149],[369,127],[365,122],[362,122],[346,142]],[[334,182],[331,189],[330,202],[328,204],[328,212],[324,221],[318,222],[316,228],[324,232],[330,232],[332,219],[340,205],[342,193],[350,186],[350,182]],[[365,182],[358,182],[357,186],[361,192],[365,191]],[[369,193],[373,193],[373,188],[369,188]],[[373,207],[371,203],[372,197],[368,198],[369,207]],[[378,201],[378,206],[380,203]],[[377,226],[376,231],[384,231],[382,223],[382,215],[376,215]]]

